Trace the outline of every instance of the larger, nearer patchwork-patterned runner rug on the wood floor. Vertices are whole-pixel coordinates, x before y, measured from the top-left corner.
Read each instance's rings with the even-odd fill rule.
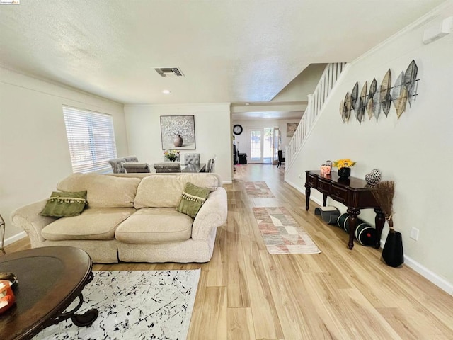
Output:
[[[286,208],[253,208],[269,254],[319,254],[321,250]]]

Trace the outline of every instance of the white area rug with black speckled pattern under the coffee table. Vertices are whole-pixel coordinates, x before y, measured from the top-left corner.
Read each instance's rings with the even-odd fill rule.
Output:
[[[33,339],[186,339],[200,269],[93,271],[80,312],[97,308],[91,327],[66,320]],[[76,299],[79,302],[79,299]],[[70,310],[71,305],[68,307]]]

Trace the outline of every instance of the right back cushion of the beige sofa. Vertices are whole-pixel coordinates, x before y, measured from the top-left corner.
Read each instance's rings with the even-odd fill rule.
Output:
[[[219,177],[213,174],[156,174],[147,176],[140,182],[135,196],[135,208],[176,208],[180,202],[185,183],[210,188],[214,191]]]

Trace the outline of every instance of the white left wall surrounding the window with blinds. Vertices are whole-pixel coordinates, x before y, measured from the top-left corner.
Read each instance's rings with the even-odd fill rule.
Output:
[[[117,153],[128,153],[122,104],[0,68],[0,214],[8,243],[23,232],[11,225],[11,211],[49,197],[72,173],[63,105],[113,115]]]

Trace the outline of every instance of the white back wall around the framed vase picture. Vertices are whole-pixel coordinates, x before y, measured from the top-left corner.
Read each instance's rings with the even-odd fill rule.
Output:
[[[161,115],[195,115],[196,149],[181,150],[181,154],[200,153],[202,163],[217,156],[215,172],[222,176],[224,183],[231,183],[233,154],[229,103],[125,106],[129,149],[140,162],[164,162]]]

